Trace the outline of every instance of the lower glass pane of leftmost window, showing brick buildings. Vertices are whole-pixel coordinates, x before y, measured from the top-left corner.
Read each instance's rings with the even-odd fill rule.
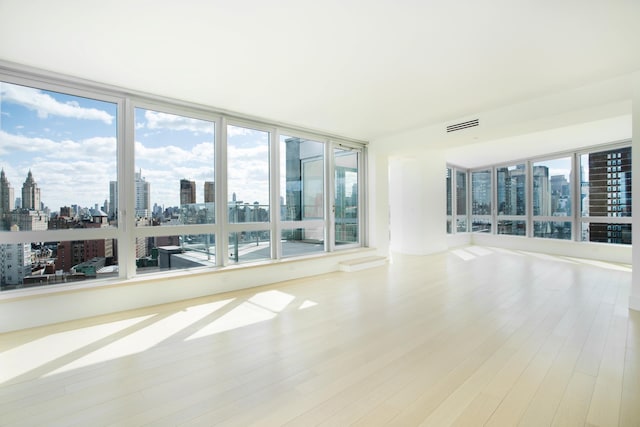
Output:
[[[118,277],[116,239],[0,244],[0,290]]]

